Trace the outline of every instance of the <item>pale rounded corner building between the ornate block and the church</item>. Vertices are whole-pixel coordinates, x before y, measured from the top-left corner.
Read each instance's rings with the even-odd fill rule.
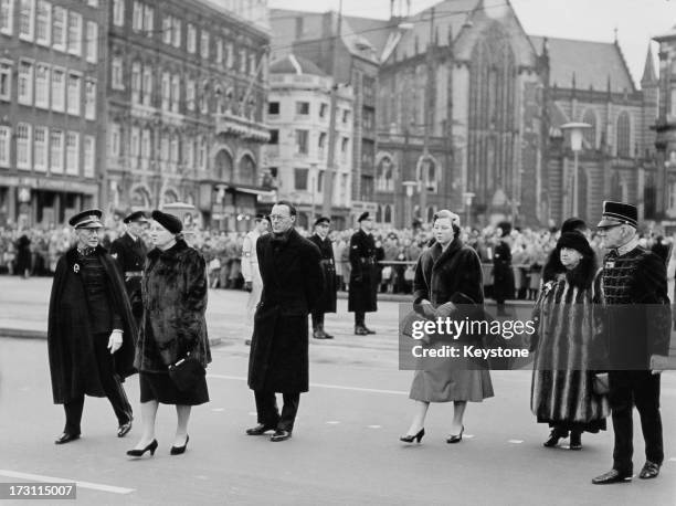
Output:
[[[271,64],[266,158],[277,194],[297,204],[299,226],[311,230],[321,214],[328,173],[330,104],[334,81],[308,60],[287,54]],[[331,221],[351,224],[353,95],[337,89],[331,185]]]

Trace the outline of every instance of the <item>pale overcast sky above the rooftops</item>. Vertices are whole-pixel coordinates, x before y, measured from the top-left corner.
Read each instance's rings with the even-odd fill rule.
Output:
[[[268,0],[275,9],[314,12],[338,10],[340,0]],[[507,0],[486,0],[486,4]],[[401,0],[405,10],[405,0]],[[439,0],[411,0],[411,13],[439,3]],[[612,42],[617,29],[620,48],[634,83],[640,87],[651,39],[676,24],[676,0],[510,0],[526,33],[563,39]],[[400,0],[394,0],[395,8]],[[342,0],[348,15],[388,19],[390,0]],[[655,71],[658,72],[658,44],[652,42]]]

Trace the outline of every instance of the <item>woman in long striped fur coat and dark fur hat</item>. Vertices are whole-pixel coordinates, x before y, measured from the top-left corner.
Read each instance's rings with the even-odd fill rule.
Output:
[[[594,315],[596,259],[579,232],[564,232],[542,271],[534,320],[537,333],[530,409],[552,428],[545,446],[570,433],[570,449],[582,447],[582,432],[605,430],[608,399],[592,389],[593,365],[603,358]]]

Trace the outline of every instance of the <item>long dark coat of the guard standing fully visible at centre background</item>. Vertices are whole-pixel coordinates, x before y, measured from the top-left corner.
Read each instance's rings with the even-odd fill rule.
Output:
[[[350,239],[350,267],[348,310],[377,312],[380,280],[376,264],[376,241],[363,230],[358,230]]]

